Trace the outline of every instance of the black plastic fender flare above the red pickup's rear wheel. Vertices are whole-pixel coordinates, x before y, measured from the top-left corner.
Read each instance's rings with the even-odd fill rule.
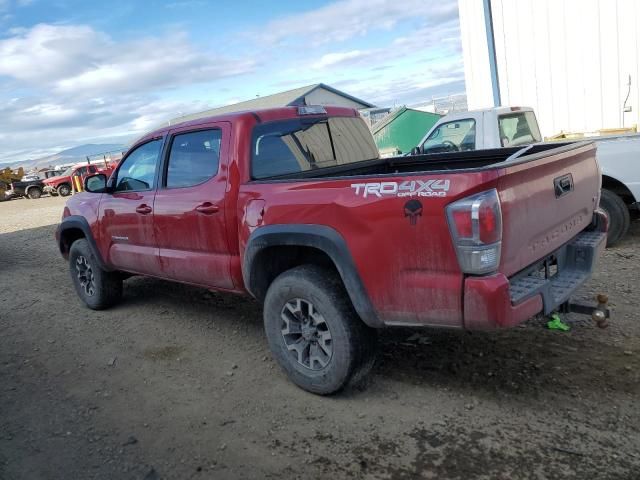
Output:
[[[254,271],[254,261],[258,254],[268,247],[287,245],[312,247],[327,254],[338,270],[351,303],[362,321],[374,328],[384,326],[362,283],[347,243],[336,230],[325,225],[268,225],[254,230],[247,241],[242,262],[242,278],[251,295],[258,297]]]

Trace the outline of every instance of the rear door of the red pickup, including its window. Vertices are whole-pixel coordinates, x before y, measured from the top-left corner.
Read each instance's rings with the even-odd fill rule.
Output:
[[[224,197],[230,124],[171,131],[154,206],[163,276],[233,288]]]

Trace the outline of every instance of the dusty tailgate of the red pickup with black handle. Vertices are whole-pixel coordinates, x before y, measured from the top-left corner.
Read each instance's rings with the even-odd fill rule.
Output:
[[[506,166],[498,180],[503,215],[500,271],[511,276],[584,230],[599,190],[593,143],[524,156]]]

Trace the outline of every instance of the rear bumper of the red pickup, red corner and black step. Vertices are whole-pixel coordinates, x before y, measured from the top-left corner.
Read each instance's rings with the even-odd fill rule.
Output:
[[[585,230],[548,257],[511,278],[501,273],[468,277],[464,284],[467,329],[511,327],[539,313],[549,314],[569,300],[590,277],[605,248],[606,220]]]

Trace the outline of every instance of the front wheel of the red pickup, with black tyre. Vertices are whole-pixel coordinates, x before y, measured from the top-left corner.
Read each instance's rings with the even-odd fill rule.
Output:
[[[69,251],[71,280],[80,299],[93,310],[114,305],[122,297],[122,277],[98,266],[88,242],[76,240]]]

